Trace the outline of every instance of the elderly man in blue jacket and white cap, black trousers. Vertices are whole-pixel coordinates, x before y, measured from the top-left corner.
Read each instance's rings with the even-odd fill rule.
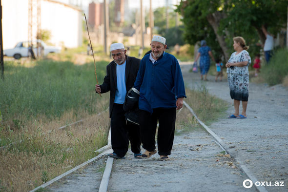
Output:
[[[165,53],[165,42],[161,36],[152,38],[152,52],[142,58],[134,83],[134,88],[140,91],[140,130],[146,150],[140,158],[157,153],[155,134],[159,121],[158,154],[161,160],[168,159],[174,140],[176,109],[183,107],[186,97],[180,65],[173,55]]]

